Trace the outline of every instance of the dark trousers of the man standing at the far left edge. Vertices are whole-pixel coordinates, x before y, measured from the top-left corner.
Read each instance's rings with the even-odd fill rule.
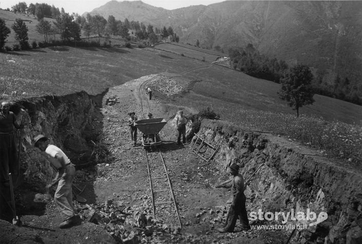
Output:
[[[9,181],[9,173],[18,174],[15,136],[0,133],[0,183]]]

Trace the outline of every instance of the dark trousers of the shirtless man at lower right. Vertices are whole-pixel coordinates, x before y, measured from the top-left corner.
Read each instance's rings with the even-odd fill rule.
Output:
[[[235,196],[234,196],[235,198]],[[235,199],[233,199],[234,201]],[[236,204],[230,206],[230,210],[226,218],[225,230],[227,232],[233,232],[236,225],[236,220],[239,218],[241,226],[243,228],[249,228],[249,219],[247,219],[247,213],[245,208],[246,197],[244,193],[236,199]]]

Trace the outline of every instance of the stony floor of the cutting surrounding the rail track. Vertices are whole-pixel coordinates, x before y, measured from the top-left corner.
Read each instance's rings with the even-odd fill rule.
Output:
[[[171,120],[161,130],[163,156],[172,181],[182,229],[167,221],[167,216],[151,217],[150,189],[144,149],[132,146],[127,126],[128,113],[135,111],[142,118],[139,87],[153,76],[127,82],[109,89],[104,97],[98,118],[93,120],[93,130],[98,136],[94,141],[93,154],[97,165],[78,167],[75,185],[84,192],[87,201],[74,201],[75,210],[83,221],[79,226],[61,230],[60,215],[54,202],[37,192],[36,199],[26,199],[27,191],[20,187],[17,193],[18,213],[23,222],[17,227],[0,221],[2,243],[282,243],[288,236],[282,231],[241,231],[239,222],[234,233],[220,234],[228,210],[226,201],[231,194],[228,189],[215,188],[225,172],[215,162],[208,165],[195,156],[192,143],[177,145],[176,128]],[[176,111],[194,114],[193,108],[176,107],[167,97],[182,91],[182,85],[163,91],[157,89],[162,82],[172,82],[161,77],[150,85],[155,98],[149,101],[154,118],[172,118]],[[184,82],[187,87],[187,81]],[[144,91],[141,90],[143,96]],[[111,98],[110,101],[107,98]],[[148,110],[144,111],[144,116]],[[22,192],[23,191],[23,192]],[[76,191],[77,192],[77,191]],[[28,194],[29,196],[33,196]],[[32,202],[32,204],[29,204]],[[41,211],[37,211],[37,210]],[[171,215],[170,215],[171,216]],[[159,220],[161,219],[161,220]]]

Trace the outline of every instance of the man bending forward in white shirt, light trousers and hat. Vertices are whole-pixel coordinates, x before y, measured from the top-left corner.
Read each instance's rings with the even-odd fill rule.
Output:
[[[45,152],[49,157],[50,163],[59,171],[60,177],[47,185],[47,189],[49,189],[58,182],[54,202],[64,220],[59,225],[59,228],[70,228],[79,224],[81,219],[78,215],[74,214],[72,201],[72,181],[75,174],[74,165],[59,147],[49,144],[48,138],[44,135],[34,137],[34,146],[39,148],[40,151]]]

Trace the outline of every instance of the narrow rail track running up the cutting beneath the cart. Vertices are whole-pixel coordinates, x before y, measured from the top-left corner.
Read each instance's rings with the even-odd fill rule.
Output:
[[[149,81],[156,79],[157,77],[158,76],[148,79],[140,85],[139,97],[143,118],[145,118],[147,111],[151,112],[148,99],[144,92],[146,85]],[[143,91],[143,96],[141,90]],[[154,219],[163,220],[163,222],[168,223],[171,226],[179,226],[182,228],[174,190],[161,149],[158,148],[158,152],[148,152],[145,148],[144,152],[151,191],[153,217]]]

